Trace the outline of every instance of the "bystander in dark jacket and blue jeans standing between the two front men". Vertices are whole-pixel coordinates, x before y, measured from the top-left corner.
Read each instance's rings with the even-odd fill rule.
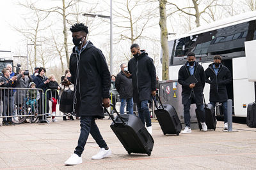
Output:
[[[133,100],[132,100],[132,80],[127,78],[128,68],[126,64],[121,64],[121,71],[116,76],[116,90],[120,95],[120,113],[124,114],[125,103],[127,103],[126,110],[129,114],[133,114]]]

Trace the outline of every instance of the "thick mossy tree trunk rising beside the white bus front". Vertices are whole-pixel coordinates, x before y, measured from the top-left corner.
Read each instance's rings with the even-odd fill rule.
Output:
[[[160,20],[159,26],[161,28],[161,48],[163,52],[162,59],[162,79],[169,80],[169,52],[168,52],[168,31],[166,26],[166,0],[159,0]]]

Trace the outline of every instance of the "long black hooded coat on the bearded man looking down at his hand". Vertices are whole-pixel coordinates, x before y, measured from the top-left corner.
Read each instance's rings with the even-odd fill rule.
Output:
[[[138,57],[128,62],[128,71],[132,74],[133,101],[150,101],[151,92],[156,90],[156,67],[153,59],[148,57],[145,50],[141,50]]]

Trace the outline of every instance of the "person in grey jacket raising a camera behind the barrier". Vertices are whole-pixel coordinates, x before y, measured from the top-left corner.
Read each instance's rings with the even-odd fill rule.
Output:
[[[33,81],[33,78],[29,76],[28,70],[21,70],[19,71],[19,74],[17,76],[17,88],[28,88],[29,83]],[[26,103],[26,93],[27,90],[23,89],[17,89],[16,90],[16,98],[15,98],[15,104],[17,104],[19,107],[22,106],[22,104]]]

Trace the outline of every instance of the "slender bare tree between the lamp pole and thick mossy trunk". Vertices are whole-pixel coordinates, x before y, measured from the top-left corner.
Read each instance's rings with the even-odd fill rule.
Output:
[[[113,25],[118,28],[115,34],[119,37],[116,43],[128,39],[133,44],[140,38],[150,39],[150,36],[143,35],[147,27],[152,26],[149,21],[156,16],[150,3],[141,0],[116,1],[115,3],[117,6],[113,8],[115,16]],[[132,55],[129,59],[131,57]]]

